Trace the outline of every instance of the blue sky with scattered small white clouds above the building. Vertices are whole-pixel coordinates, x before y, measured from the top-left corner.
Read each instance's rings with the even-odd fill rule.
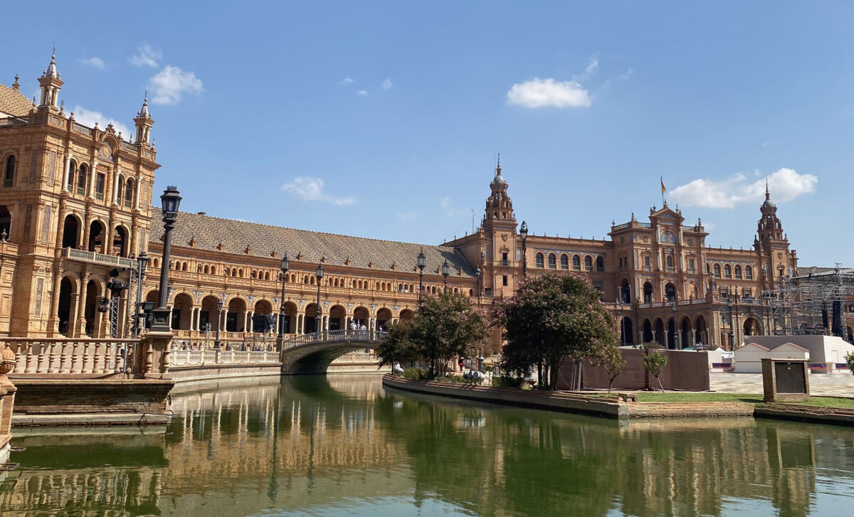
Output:
[[[34,92],[56,45],[67,111],[131,127],[149,88],[155,187],[188,212],[438,243],[480,221],[500,152],[536,235],[646,220],[663,176],[710,245],[750,247],[769,177],[800,264],[854,266],[849,4],[38,10],[5,27],[0,82]]]

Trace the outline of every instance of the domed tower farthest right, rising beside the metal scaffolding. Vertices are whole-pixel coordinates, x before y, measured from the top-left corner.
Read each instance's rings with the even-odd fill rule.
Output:
[[[761,262],[763,288],[773,289],[778,278],[794,274],[797,258],[794,251],[789,251],[789,240],[777,217],[777,206],[771,200],[767,180],[765,200],[759,211],[762,212],[762,218],[757,223],[757,238],[753,241],[753,247]]]

